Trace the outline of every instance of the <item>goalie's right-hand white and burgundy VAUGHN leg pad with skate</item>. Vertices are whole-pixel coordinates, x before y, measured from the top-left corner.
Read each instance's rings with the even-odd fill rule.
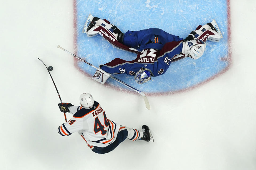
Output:
[[[215,20],[213,20],[210,23],[207,23],[205,25],[199,25],[195,31],[192,31],[186,38],[186,41],[189,40],[202,40],[205,42],[209,39],[209,41],[218,42],[222,38],[221,31],[216,23]]]

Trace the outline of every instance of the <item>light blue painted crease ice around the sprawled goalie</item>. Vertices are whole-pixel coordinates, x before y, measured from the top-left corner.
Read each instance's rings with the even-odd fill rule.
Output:
[[[129,1],[130,2],[130,1]],[[207,83],[225,73],[230,67],[232,61],[230,48],[230,4],[227,0],[210,1],[207,3],[198,4],[203,11],[195,11],[191,8],[194,6],[194,1],[179,1],[173,0],[174,3],[165,3],[165,1],[150,1],[149,8],[144,0],[136,1],[137,6],[133,6],[133,10],[127,8],[127,1],[113,0],[112,3],[95,3],[94,1],[78,1],[74,0],[74,46],[76,48],[74,54],[84,58],[94,66],[108,63],[115,58],[121,58],[126,61],[133,61],[137,54],[123,51],[114,48],[104,38],[107,33],[102,32],[104,37],[96,35],[87,37],[83,33],[83,27],[87,22],[89,13],[101,19],[107,19],[111,24],[116,25],[120,31],[126,33],[128,30],[138,31],[148,28],[160,28],[172,35],[179,37],[187,37],[191,31],[194,31],[198,25],[204,25],[216,20],[223,38],[219,42],[206,41],[206,49],[202,57],[197,60],[192,58],[183,58],[175,62],[169,62],[169,65],[158,68],[159,76],[152,77],[152,80],[144,84],[138,84],[134,81],[134,72],[127,74],[117,74],[115,77],[121,81],[130,84],[132,87],[149,94],[172,94],[179,91],[193,89],[202,83]],[[118,4],[119,8],[116,8]],[[141,8],[145,10],[141,10]],[[161,15],[152,15],[153,11],[162,11]],[[182,11],[171,13],[167,11]],[[205,15],[205,11],[209,14]],[[143,16],[142,19],[134,19],[131,16],[136,13]],[[184,21],[183,16],[187,22]],[[195,18],[194,16],[199,16]],[[165,23],[151,22],[165,20]],[[210,18],[208,18],[210,17]],[[143,20],[143,21],[142,21]],[[103,31],[103,30],[102,30]],[[96,69],[87,65],[84,62],[75,60],[75,67],[82,70],[88,77],[93,77]],[[166,63],[165,63],[166,64]],[[143,65],[142,65],[143,66]],[[163,69],[165,73],[163,74]],[[95,81],[95,80],[89,80]],[[109,88],[116,88],[121,91],[129,88],[114,79],[107,79],[106,83]]]

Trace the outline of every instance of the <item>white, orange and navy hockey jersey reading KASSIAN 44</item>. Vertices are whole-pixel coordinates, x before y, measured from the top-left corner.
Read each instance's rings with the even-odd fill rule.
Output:
[[[107,119],[97,101],[90,109],[71,106],[69,110],[74,116],[59,126],[60,135],[68,136],[77,131],[91,149],[93,146],[106,147],[115,141],[120,125]]]

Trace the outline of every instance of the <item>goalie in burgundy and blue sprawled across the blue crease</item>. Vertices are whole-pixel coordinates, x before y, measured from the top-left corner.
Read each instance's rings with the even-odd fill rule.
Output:
[[[207,39],[218,42],[222,38],[215,20],[203,26],[199,25],[183,39],[158,28],[128,30],[122,33],[106,19],[102,20],[91,14],[86,20],[83,32],[89,37],[100,34],[116,48],[137,53],[135,60],[115,58],[101,65],[100,69],[109,74],[126,73],[134,76],[139,84],[147,82],[151,77],[164,74],[171,62],[185,57],[198,59],[203,55]]]

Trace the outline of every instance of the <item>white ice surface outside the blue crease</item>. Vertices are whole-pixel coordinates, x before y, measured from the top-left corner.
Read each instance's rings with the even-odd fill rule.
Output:
[[[1,169],[256,169],[255,0],[232,0],[232,65],[188,92],[148,96],[112,90],[74,67],[73,1],[1,1]],[[57,104],[78,105],[89,92],[118,124],[146,124],[155,143],[121,143],[95,154],[65,122]],[[122,85],[121,85],[122,86]],[[67,114],[68,119],[71,118]]]

